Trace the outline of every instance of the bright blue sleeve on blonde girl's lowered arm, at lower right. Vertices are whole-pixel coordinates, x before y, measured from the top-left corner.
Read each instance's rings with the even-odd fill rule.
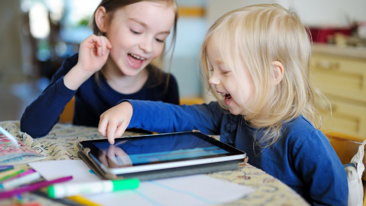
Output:
[[[329,141],[314,130],[295,146],[296,170],[308,184],[313,205],[347,205],[347,175]],[[314,152],[315,151],[315,152]]]

